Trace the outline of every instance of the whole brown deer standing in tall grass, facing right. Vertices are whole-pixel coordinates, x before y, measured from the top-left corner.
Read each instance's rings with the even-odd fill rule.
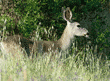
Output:
[[[33,41],[20,35],[7,36],[0,42],[1,51],[5,54],[11,53],[13,56],[20,53],[29,56],[32,53],[48,53],[49,51],[58,52],[66,51],[70,49],[75,36],[89,37],[88,30],[81,28],[78,22],[72,22],[72,11],[69,7],[62,8],[63,19],[67,22],[67,25],[61,35],[61,38],[57,41]],[[19,50],[19,51],[18,51]],[[16,53],[16,54],[15,54]]]

